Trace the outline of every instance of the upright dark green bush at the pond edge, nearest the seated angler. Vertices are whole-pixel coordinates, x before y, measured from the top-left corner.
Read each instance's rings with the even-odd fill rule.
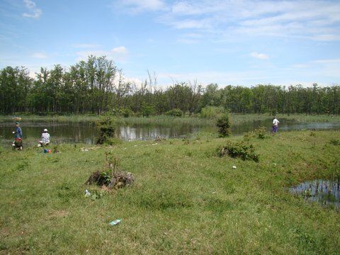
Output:
[[[117,128],[117,121],[115,120],[115,118],[112,118],[110,116],[104,116],[96,122],[96,128],[98,128],[98,130],[100,131],[96,143],[98,145],[103,145],[114,137],[115,130]]]

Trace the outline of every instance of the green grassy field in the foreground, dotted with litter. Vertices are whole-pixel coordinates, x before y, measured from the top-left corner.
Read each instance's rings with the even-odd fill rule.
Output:
[[[218,146],[242,139],[2,149],[0,254],[339,254],[339,212],[287,187],[340,176],[340,146],[329,142],[340,132],[251,138],[259,163],[217,157]],[[83,184],[108,150],[133,186]],[[103,196],[86,198],[86,188]]]

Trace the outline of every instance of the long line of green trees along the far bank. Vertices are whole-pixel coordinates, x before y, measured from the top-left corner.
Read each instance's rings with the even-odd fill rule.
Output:
[[[122,69],[106,57],[90,56],[64,69],[41,68],[35,78],[25,67],[0,70],[0,113],[164,114],[174,109],[198,113],[216,106],[233,113],[340,113],[340,86],[256,85],[205,88],[197,81],[162,88],[147,72],[142,84],[125,81]]]

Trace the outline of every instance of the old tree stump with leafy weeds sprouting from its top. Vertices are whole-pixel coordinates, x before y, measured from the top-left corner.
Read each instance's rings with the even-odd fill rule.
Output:
[[[123,188],[130,186],[134,181],[131,173],[120,171],[120,159],[115,157],[112,152],[106,152],[105,165],[103,170],[97,170],[91,174],[84,183],[86,185],[96,184],[107,188]]]

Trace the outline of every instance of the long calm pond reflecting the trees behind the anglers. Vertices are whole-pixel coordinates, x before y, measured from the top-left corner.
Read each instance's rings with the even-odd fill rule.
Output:
[[[255,120],[232,126],[233,135],[242,135],[248,132],[266,126],[271,130],[271,119]],[[42,130],[48,129],[52,142],[82,142],[94,144],[96,142],[97,130],[93,123],[74,123],[74,122],[54,122],[54,121],[22,121],[23,138],[26,142],[40,139]],[[300,123],[294,120],[280,120],[279,131],[287,130],[321,130],[333,129],[340,130],[340,123]],[[12,121],[0,123],[1,145],[11,144],[13,140],[12,131],[15,126]],[[197,132],[217,132],[214,125],[121,125],[118,127],[116,136],[123,140],[154,140],[155,137],[186,137]]]

